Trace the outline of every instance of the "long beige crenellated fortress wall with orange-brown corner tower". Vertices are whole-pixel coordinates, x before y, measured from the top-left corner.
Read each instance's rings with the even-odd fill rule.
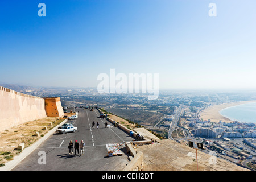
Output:
[[[0,131],[24,122],[63,115],[60,97],[40,98],[0,86]]]

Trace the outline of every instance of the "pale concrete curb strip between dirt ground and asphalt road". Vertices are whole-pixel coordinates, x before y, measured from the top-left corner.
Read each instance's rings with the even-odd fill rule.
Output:
[[[19,164],[24,158],[26,158],[32,151],[36,149],[36,147],[40,146],[46,140],[49,138],[53,133],[55,133],[57,127],[63,125],[65,122],[67,122],[68,119],[65,119],[63,122],[61,122],[59,125],[53,127],[53,129],[49,130],[44,137],[40,138],[38,141],[36,141],[31,146],[25,148],[19,155],[15,156],[13,160],[5,163],[5,166],[0,167],[0,171],[11,171],[17,164]]]

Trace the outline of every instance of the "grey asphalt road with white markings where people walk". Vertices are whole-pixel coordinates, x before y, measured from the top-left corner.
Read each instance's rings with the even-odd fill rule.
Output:
[[[75,133],[53,134],[13,170],[122,170],[129,163],[125,147],[122,148],[124,155],[106,157],[108,154],[106,143],[124,143],[132,141],[134,138],[117,127],[105,128],[104,122],[106,120],[97,118],[99,115],[97,110],[77,110],[80,111],[79,118],[73,122],[68,121],[73,123],[73,126],[78,127]],[[92,129],[93,121],[100,123],[99,129]],[[108,124],[110,125],[109,122]],[[84,140],[85,154],[82,156],[69,155],[68,144],[70,140],[73,143],[75,143],[75,140],[78,142]],[[46,154],[46,164],[39,164],[43,161],[41,160],[43,155],[40,154],[40,151]]]

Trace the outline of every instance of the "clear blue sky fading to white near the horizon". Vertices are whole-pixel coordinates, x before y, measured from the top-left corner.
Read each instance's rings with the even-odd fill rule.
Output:
[[[46,17],[38,4],[46,4]],[[210,17],[216,3],[217,17]],[[97,86],[159,73],[159,87],[255,88],[256,1],[0,1],[0,82]]]

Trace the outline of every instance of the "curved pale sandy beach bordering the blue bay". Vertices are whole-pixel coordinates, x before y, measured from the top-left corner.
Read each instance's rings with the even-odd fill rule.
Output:
[[[199,113],[199,119],[208,120],[210,119],[211,122],[222,122],[230,123],[233,122],[232,120],[222,116],[219,112],[226,107],[232,107],[236,105],[246,104],[249,102],[256,102],[256,101],[241,101],[241,102],[231,102],[227,104],[220,104],[220,105],[213,105],[208,107],[207,109],[201,111]]]

